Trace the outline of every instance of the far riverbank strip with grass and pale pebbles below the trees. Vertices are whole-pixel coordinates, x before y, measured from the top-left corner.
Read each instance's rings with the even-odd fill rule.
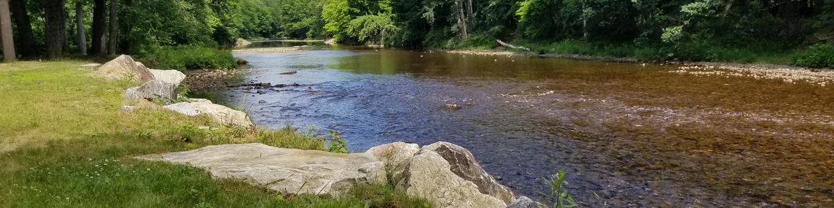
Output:
[[[480,44],[480,45],[479,45]],[[604,44],[564,40],[560,42],[517,41],[510,45],[494,42],[461,43],[451,52],[501,55],[513,52],[524,56],[557,57],[608,62],[726,62],[756,65],[779,65],[825,68],[834,67],[834,45],[817,44],[808,47],[771,48],[769,46],[721,47],[716,45],[684,44],[671,46],[636,47],[629,44]],[[784,67],[781,67],[784,68]]]

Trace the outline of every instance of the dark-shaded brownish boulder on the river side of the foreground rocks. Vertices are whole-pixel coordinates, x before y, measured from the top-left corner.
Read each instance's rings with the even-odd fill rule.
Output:
[[[450,171],[455,173],[456,176],[474,183],[475,186],[478,186],[480,193],[493,196],[506,204],[512,203],[515,199],[510,188],[502,186],[494,177],[486,173],[484,168],[480,167],[478,161],[475,161],[475,156],[472,156],[472,153],[464,147],[440,141],[429,146],[423,146],[420,152],[425,151],[436,152],[443,159],[449,161]]]

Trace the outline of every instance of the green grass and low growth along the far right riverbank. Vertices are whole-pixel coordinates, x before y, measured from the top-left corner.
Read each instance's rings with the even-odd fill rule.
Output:
[[[834,68],[834,45],[817,44],[808,47],[776,47],[770,45],[728,47],[709,43],[656,44],[637,47],[634,44],[614,44],[564,40],[560,42],[516,41],[515,46],[528,47],[537,54],[628,58],[640,62],[738,62],[793,65],[799,67]],[[471,37],[455,48],[493,50],[500,45],[488,37]],[[526,52],[520,51],[519,52]],[[564,56],[569,55],[569,56]]]

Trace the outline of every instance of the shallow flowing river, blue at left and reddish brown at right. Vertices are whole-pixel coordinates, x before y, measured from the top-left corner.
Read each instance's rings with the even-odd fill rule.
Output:
[[[834,206],[834,84],[430,51],[234,55],[253,67],[244,82],[299,84],[223,93],[259,126],[336,131],[351,151],[450,141],[516,195],[543,199],[540,178],[564,170],[581,206]]]

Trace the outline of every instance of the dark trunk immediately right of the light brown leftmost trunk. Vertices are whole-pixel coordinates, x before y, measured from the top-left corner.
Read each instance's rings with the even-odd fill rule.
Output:
[[[26,0],[11,0],[9,6],[12,7],[14,24],[18,28],[18,52],[23,57],[34,57],[38,55],[35,50],[35,35],[32,32],[32,22],[29,21],[29,13],[26,11]]]

